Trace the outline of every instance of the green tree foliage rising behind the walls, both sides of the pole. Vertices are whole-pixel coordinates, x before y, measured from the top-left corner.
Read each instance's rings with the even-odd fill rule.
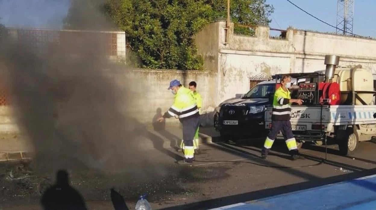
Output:
[[[72,4],[65,19],[70,28],[79,27],[83,22],[76,20],[85,19],[79,18],[81,13],[76,8],[100,7],[96,0],[72,1],[78,3]],[[270,23],[273,6],[265,1],[231,0],[232,21],[247,25]],[[206,24],[225,20],[226,7],[227,0],[106,0],[100,10],[126,32],[128,44],[144,68],[202,69],[203,59],[196,53],[193,36]],[[235,33],[251,35],[253,31],[235,27]]]

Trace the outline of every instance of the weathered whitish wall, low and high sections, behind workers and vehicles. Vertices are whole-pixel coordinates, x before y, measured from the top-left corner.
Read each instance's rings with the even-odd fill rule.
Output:
[[[325,69],[324,56],[341,56],[340,65],[362,65],[376,74],[376,41],[288,29],[286,39],[270,39],[268,27],[258,27],[254,37],[233,34],[225,42],[226,23],[209,24],[195,37],[198,53],[205,60],[205,71],[120,69],[111,71],[119,85],[132,83],[132,102],[128,111],[140,122],[149,124],[156,110],[165,112],[173,103],[167,90],[170,80],[185,86],[192,80],[203,97],[203,124],[212,123],[212,112],[223,100],[249,90],[250,77],[258,74],[312,72]],[[125,47],[125,35],[118,35],[119,50]],[[124,42],[122,42],[124,41]],[[139,81],[139,82],[137,82]],[[9,113],[9,112],[4,112]],[[3,117],[3,119],[2,119]],[[0,124],[12,124],[6,114]],[[168,122],[178,123],[175,119]],[[1,130],[1,129],[0,129]]]

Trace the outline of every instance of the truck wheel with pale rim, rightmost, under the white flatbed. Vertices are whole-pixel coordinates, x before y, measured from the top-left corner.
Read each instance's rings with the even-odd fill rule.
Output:
[[[338,148],[343,156],[351,155],[358,148],[359,140],[353,128],[337,131]]]

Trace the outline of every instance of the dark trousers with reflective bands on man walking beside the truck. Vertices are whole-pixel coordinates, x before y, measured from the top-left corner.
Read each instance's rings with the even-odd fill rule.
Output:
[[[295,141],[293,131],[291,130],[290,120],[275,120],[275,121],[272,121],[271,122],[271,129],[269,131],[269,134],[267,136],[266,141],[270,141],[270,140],[274,141],[276,139],[279,131],[282,131],[282,134],[285,138],[285,141],[288,141],[290,139],[294,139],[293,141]],[[287,142],[286,142],[286,144],[287,144]],[[269,151],[270,151],[270,148],[265,148],[265,146],[264,146],[262,148],[261,154],[267,155],[269,153]],[[295,148],[293,150],[290,150],[290,148],[289,148],[289,153],[291,155],[294,155],[294,154],[299,154],[299,151],[298,151],[297,148]]]

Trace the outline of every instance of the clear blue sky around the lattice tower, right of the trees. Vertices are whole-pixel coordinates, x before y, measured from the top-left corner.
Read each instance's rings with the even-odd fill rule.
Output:
[[[288,26],[293,26],[297,29],[335,32],[334,28],[315,20],[286,0],[266,0],[266,2],[274,6],[274,14],[271,17],[273,21],[270,24],[272,28],[287,29]],[[336,26],[337,0],[291,0],[291,2]],[[376,0],[355,0],[353,33],[376,37],[375,8]]]

